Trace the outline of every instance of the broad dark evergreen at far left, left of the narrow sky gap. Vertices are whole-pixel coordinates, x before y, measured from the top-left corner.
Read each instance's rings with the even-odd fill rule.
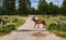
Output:
[[[15,0],[3,0],[4,14],[15,14]]]

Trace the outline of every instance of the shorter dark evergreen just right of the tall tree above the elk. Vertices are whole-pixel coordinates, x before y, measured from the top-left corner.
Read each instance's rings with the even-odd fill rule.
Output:
[[[56,15],[59,13],[59,8],[56,4],[53,4],[53,2],[50,2],[47,14]]]

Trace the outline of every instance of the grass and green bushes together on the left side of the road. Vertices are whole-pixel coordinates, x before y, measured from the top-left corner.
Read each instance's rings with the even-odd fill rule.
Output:
[[[0,24],[0,36],[9,34],[12,30],[15,30],[16,28],[19,28],[20,26],[22,26],[25,23],[25,21],[22,19],[22,18],[19,18],[19,16],[1,15],[0,18],[3,19],[7,23],[2,27],[1,27],[1,24]]]

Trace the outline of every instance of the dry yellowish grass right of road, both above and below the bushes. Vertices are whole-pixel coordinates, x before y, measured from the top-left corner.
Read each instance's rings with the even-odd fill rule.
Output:
[[[37,17],[41,19],[45,19],[47,26],[50,26],[52,23],[57,24],[56,21],[59,19],[61,17],[66,18],[66,16],[64,15],[56,15],[56,16],[44,15],[44,17],[42,15],[38,15]],[[66,38],[66,31],[59,31],[59,30],[50,30],[50,31],[56,34],[58,37]]]

